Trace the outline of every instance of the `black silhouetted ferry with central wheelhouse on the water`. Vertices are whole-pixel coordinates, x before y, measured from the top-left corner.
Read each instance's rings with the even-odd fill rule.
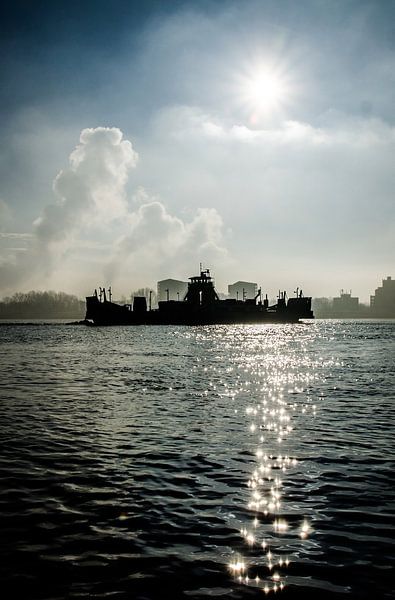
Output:
[[[303,296],[299,288],[296,297],[287,299],[279,292],[277,303],[269,306],[267,294],[262,300],[261,289],[253,299],[220,300],[208,269],[190,277],[182,300],[166,300],[157,309],[147,307],[144,296],[135,296],[133,304],[116,304],[100,288],[86,298],[85,320],[93,325],[219,325],[255,323],[298,323],[313,319],[311,297]]]

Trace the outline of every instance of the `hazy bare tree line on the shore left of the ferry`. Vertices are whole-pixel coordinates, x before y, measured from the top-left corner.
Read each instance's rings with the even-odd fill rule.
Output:
[[[0,302],[0,319],[83,319],[85,302],[65,292],[16,292]]]

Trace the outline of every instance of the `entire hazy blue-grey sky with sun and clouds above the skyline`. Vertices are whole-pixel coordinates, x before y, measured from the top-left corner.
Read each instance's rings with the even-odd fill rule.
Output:
[[[395,2],[3,2],[0,296],[395,277]]]

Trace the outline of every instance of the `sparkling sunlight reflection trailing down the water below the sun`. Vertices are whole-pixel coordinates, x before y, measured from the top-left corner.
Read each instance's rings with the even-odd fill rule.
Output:
[[[270,594],[284,589],[295,544],[304,543],[313,532],[307,516],[295,516],[287,506],[284,488],[292,473],[302,468],[291,454],[292,438],[298,419],[306,423],[316,416],[309,386],[318,377],[320,362],[308,359],[302,339],[294,351],[283,352],[287,341],[281,332],[274,339],[273,335],[262,338],[262,334],[257,331],[262,346],[255,344],[256,353],[246,352],[235,359],[235,368],[245,381],[238,376],[233,390],[227,388],[235,414],[245,414],[247,436],[255,445],[247,479],[246,509],[251,520],[240,528],[245,551],[237,554],[229,571],[239,583]]]

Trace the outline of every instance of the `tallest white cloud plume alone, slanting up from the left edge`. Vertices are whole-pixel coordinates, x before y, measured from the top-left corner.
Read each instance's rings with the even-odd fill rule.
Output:
[[[137,159],[119,129],[84,129],[69,167],[55,178],[56,202],[48,204],[33,223],[28,251],[3,254],[2,287],[45,285],[54,271],[61,271],[79,234],[92,224],[105,225],[126,215],[125,185]]]

